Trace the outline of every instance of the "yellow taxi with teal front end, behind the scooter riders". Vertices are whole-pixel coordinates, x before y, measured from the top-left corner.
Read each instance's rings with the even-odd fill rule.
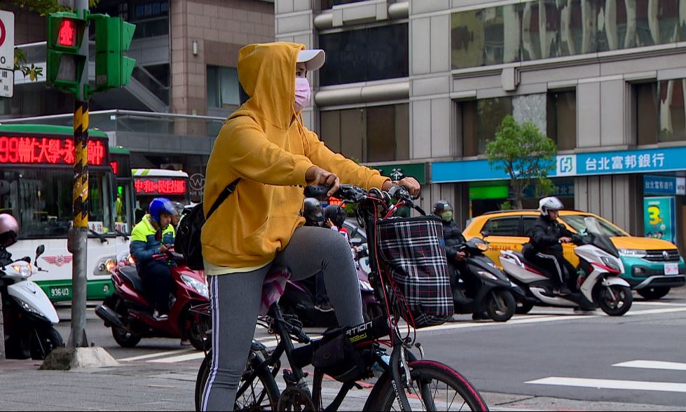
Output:
[[[490,212],[475,217],[462,232],[467,240],[481,238],[489,243],[486,254],[500,265],[500,251],[521,252],[528,242],[528,231],[540,216],[537,210],[507,210]],[[638,294],[649,299],[658,299],[669,293],[672,287],[686,284],[686,266],[676,246],[666,240],[638,238],[631,236],[612,222],[588,212],[561,210],[560,219],[570,231],[579,233],[585,228],[584,218],[598,219],[605,234],[619,250],[624,263],[622,277]],[[578,266],[579,258],[574,254],[575,245],[563,245],[565,258]]]

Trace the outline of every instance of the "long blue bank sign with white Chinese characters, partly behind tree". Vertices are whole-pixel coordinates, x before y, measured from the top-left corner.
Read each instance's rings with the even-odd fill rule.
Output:
[[[685,160],[686,147],[561,155],[550,177],[686,170]],[[433,183],[509,179],[505,170],[491,168],[488,160],[432,163],[431,175]]]

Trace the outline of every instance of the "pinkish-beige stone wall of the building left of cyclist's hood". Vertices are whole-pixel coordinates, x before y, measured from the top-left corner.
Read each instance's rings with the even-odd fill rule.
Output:
[[[207,65],[236,67],[242,46],[275,38],[274,4],[268,1],[172,1],[170,19],[174,114],[207,114]]]

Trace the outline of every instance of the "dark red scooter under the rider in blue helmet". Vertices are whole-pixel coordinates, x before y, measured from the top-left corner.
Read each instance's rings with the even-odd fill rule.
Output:
[[[114,340],[123,348],[134,347],[142,338],[187,338],[193,348],[205,350],[210,320],[190,311],[193,305],[210,303],[205,275],[190,270],[181,254],[170,250],[167,255],[177,266],[171,267],[176,291],[170,296],[170,313],[165,320],[153,317],[153,303],[134,265],[120,261],[112,269],[114,294],[105,298],[95,313],[105,327],[112,328]]]

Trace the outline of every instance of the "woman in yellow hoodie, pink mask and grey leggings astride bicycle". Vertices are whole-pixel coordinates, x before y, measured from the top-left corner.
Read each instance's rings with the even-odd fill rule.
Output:
[[[332,195],[341,180],[382,190],[392,182],[333,153],[303,125],[300,112],[310,99],[306,72],[324,60],[323,50],[297,43],[253,44],[239,52],[238,78],[247,101],[221,128],[205,183],[207,214],[221,191],[241,179],[203,226],[214,331],[204,411],[233,408],[271,266],[289,268],[294,280],[322,271],[338,323],[362,323],[350,246],[334,231],[302,226],[302,186],[326,185]],[[413,195],[420,189],[413,178],[399,184]]]

